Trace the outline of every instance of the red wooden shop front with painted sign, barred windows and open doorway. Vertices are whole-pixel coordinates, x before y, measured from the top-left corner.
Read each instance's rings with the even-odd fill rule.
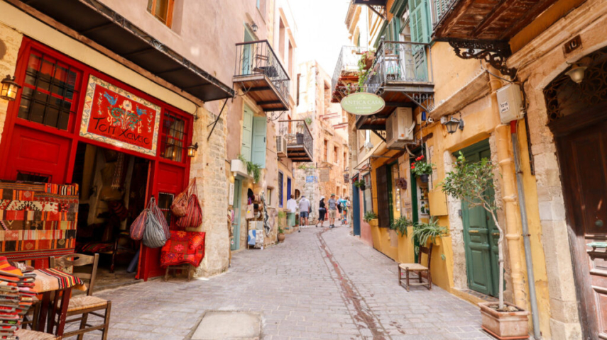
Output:
[[[21,89],[0,140],[0,203],[29,205],[20,210],[33,219],[0,210],[0,253],[41,268],[48,256],[97,252],[112,272],[136,263],[136,278],[163,275],[160,249],[133,241],[128,228],[151,197],[175,225],[170,205],[187,186],[195,152],[192,115],[30,38],[15,78]],[[71,200],[49,219],[48,198],[21,198],[13,181]]]

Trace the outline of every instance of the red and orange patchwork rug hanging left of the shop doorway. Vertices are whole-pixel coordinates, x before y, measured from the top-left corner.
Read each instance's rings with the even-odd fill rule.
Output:
[[[0,253],[35,268],[76,245],[78,186],[0,181]]]

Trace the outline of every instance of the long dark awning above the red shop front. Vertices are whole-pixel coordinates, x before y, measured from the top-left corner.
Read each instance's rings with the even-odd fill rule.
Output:
[[[97,0],[19,1],[202,101],[234,97],[231,87]]]

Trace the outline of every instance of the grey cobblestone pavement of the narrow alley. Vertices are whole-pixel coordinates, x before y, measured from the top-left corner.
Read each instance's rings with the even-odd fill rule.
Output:
[[[260,313],[262,337],[272,340],[492,339],[476,306],[436,286],[408,293],[396,270],[349,228],[310,227],[283,244],[234,254],[222,276],[98,295],[112,301],[110,339],[187,339],[207,310]]]

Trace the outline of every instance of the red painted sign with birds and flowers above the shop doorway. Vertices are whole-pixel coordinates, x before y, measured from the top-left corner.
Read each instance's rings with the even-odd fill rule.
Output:
[[[81,136],[155,156],[159,122],[160,106],[89,77]]]

